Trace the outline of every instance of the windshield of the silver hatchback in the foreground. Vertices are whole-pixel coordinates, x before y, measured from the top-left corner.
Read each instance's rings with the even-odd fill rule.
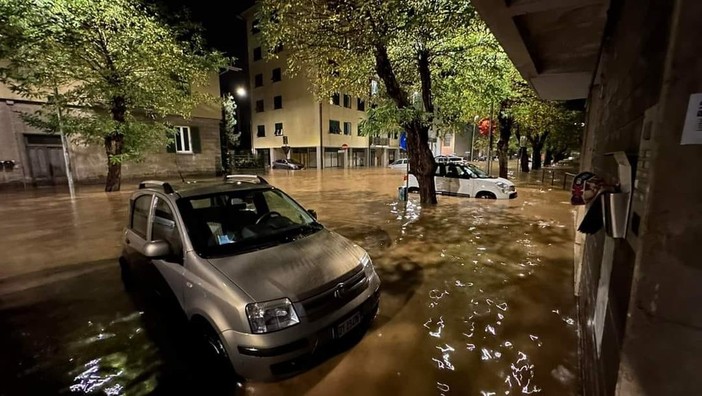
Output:
[[[205,257],[290,242],[322,229],[306,210],[277,189],[181,198],[178,207],[195,251]]]

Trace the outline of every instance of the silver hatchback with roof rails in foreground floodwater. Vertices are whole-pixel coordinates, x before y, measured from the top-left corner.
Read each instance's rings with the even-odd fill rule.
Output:
[[[258,176],[145,181],[129,205],[125,282],[177,301],[215,359],[244,378],[298,372],[377,314],[368,253]]]

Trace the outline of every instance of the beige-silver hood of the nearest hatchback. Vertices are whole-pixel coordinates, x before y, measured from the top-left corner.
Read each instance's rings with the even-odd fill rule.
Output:
[[[293,242],[210,262],[254,301],[300,301],[356,268],[364,254],[348,239],[322,229]]]

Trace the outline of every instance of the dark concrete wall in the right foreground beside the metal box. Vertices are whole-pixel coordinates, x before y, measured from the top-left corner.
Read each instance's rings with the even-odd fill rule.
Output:
[[[702,241],[702,146],[680,145],[689,95],[702,92],[700,15],[696,0],[611,4],[582,167],[615,177],[606,153],[625,151],[650,189],[634,211],[641,217],[636,241],[614,242],[599,355],[593,319],[603,232],[582,246],[576,281],[584,394],[702,394],[702,260],[695,249]],[[637,159],[644,113],[654,105],[650,157]]]

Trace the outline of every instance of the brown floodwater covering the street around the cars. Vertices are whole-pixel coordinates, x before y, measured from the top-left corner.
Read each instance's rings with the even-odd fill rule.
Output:
[[[397,201],[402,172],[273,171],[269,182],[364,247],[381,277],[364,337],[241,395],[577,394],[568,194]],[[129,192],[3,193],[0,394],[172,394],[207,386],[186,326],[122,286]],[[63,197],[63,195],[61,195]]]

